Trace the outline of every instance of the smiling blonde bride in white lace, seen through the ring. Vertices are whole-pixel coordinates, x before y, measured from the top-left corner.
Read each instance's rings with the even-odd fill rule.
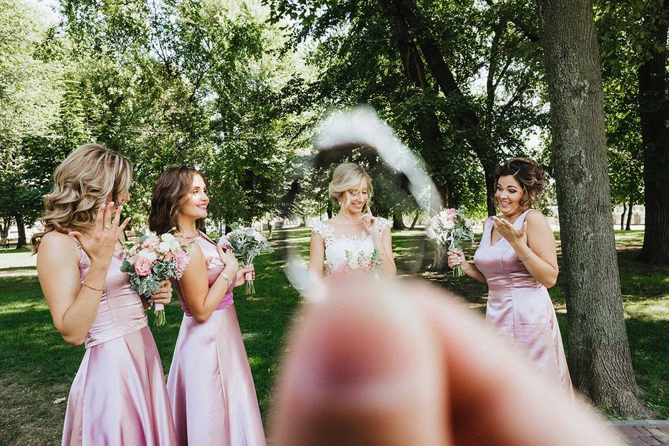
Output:
[[[394,275],[397,269],[392,256],[392,222],[371,215],[372,188],[367,171],[354,162],[339,164],[328,190],[340,210],[312,229],[309,274],[322,277],[323,259],[326,259],[330,273],[362,269]]]

